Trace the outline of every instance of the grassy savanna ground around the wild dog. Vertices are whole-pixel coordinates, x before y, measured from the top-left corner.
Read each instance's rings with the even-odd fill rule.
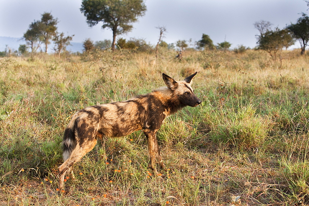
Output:
[[[309,204],[309,57],[285,51],[118,51],[0,59],[0,205]],[[61,141],[80,108],[184,79],[203,101],[158,132],[168,170],[148,167],[141,131],[101,142],[57,194]]]

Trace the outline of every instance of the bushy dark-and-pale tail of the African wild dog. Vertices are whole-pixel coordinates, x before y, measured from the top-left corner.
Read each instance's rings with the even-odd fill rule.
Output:
[[[75,138],[75,120],[77,115],[74,115],[69,123],[69,125],[64,130],[63,141],[62,141],[62,157],[63,161],[66,161],[73,149],[76,147],[76,138]]]

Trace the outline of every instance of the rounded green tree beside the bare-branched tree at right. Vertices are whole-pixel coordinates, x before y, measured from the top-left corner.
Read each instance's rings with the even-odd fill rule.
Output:
[[[285,47],[292,38],[286,29],[275,28],[273,31],[267,31],[258,37],[258,48],[269,53],[273,60],[276,60],[277,54],[281,56],[282,48]]]

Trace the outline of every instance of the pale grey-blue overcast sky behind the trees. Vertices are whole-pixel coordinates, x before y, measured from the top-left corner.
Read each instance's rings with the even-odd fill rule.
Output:
[[[88,27],[86,18],[80,12],[82,0],[0,0],[0,36],[21,38],[34,20],[44,12],[51,12],[58,18],[58,31],[75,35],[73,42],[85,39],[98,41],[112,39],[110,29],[102,29],[102,23]],[[256,46],[255,35],[259,32],[253,23],[269,21],[273,27],[284,28],[296,23],[301,12],[308,13],[304,0],[146,0],[147,11],[133,23],[131,32],[118,36],[142,38],[156,44],[159,29],[167,29],[167,43],[177,40],[192,42],[207,34],[214,44],[224,40],[231,48],[243,44]],[[0,42],[0,44],[3,44]],[[295,43],[299,48],[299,43]]]

